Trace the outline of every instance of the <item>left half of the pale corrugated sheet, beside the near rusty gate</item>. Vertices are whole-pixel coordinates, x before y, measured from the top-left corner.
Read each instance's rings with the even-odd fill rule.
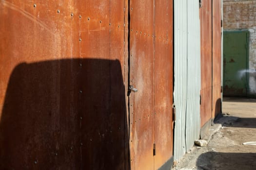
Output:
[[[186,153],[187,104],[187,0],[174,0],[174,160]]]

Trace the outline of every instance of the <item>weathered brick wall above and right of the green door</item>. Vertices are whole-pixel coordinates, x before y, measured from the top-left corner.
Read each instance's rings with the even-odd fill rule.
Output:
[[[223,29],[250,32],[249,69],[256,70],[256,0],[223,0]],[[249,92],[256,95],[255,73],[250,73]]]

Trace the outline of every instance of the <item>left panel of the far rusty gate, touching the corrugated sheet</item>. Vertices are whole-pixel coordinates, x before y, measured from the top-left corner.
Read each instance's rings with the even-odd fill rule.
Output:
[[[201,29],[201,127],[212,117],[212,0],[202,0]]]

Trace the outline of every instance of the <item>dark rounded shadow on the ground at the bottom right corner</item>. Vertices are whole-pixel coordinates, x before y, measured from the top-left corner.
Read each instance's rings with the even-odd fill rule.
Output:
[[[197,159],[202,170],[256,170],[256,153],[207,152]]]

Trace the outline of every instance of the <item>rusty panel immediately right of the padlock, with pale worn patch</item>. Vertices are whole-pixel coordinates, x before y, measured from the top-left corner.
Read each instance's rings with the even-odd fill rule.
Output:
[[[154,3],[130,1],[130,155],[132,170],[153,170]]]

